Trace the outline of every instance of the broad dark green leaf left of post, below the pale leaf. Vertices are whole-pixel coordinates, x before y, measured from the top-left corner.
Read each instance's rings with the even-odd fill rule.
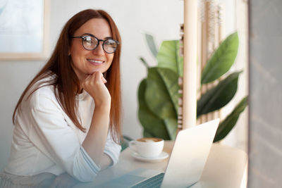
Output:
[[[149,68],[145,90],[148,108],[159,118],[176,118],[178,75],[168,68]]]

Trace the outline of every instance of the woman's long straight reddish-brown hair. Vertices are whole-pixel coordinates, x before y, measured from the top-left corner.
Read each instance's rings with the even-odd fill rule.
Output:
[[[33,80],[27,85],[23,94],[18,100],[15,110],[13,111],[13,124],[16,122],[16,112],[20,110],[20,103],[23,101],[25,94],[29,89],[39,80],[49,77],[50,73],[55,74],[55,80],[47,81],[47,84],[54,86],[56,99],[61,104],[63,111],[71,118],[73,123],[82,131],[85,128],[80,124],[77,117],[77,105],[75,96],[79,93],[80,82],[71,67],[71,56],[68,56],[71,46],[71,36],[80,28],[84,23],[92,18],[105,19],[111,28],[111,35],[113,39],[119,42],[118,49],[114,53],[114,59],[110,68],[106,72],[106,87],[111,94],[111,111],[110,111],[110,131],[111,137],[115,142],[121,139],[121,72],[120,72],[120,56],[121,56],[121,36],[118,28],[114,23],[111,16],[102,10],[87,9],[75,14],[61,31],[61,35],[56,44],[56,47],[46,65],[39,71]],[[35,92],[35,88],[32,92]]]

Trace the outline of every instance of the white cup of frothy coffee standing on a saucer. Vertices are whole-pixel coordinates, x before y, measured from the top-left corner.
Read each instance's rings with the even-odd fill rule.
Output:
[[[130,149],[145,158],[154,158],[164,149],[164,139],[140,138],[129,142]]]

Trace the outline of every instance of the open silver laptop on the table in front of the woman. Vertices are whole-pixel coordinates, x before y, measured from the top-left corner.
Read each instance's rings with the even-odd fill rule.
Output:
[[[166,171],[137,169],[101,187],[197,187],[219,119],[178,132]]]

